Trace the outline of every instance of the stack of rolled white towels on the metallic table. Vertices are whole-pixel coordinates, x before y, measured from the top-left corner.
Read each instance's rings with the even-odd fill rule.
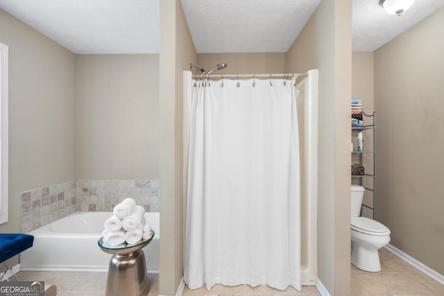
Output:
[[[126,198],[112,210],[112,216],[105,221],[103,242],[110,245],[128,243],[133,245],[153,236],[151,227],[144,218],[145,209],[136,205],[133,198]]]

